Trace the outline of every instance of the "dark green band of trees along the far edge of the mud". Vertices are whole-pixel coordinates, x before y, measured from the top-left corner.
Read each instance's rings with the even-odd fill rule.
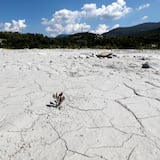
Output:
[[[0,32],[0,48],[160,49],[160,28],[130,36],[104,36],[86,32],[56,38],[42,34]]]

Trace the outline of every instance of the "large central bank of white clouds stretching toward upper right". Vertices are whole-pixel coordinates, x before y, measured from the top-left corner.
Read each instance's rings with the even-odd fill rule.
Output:
[[[56,11],[51,19],[42,18],[42,24],[46,26],[46,32],[52,36],[86,32],[91,30],[91,26],[86,24],[88,19],[116,20],[128,14],[131,10],[130,7],[127,7],[125,0],[117,0],[110,5],[102,5],[100,8],[96,4],[90,3],[84,4],[80,10],[76,11],[67,9]],[[95,29],[95,33],[103,33],[107,30],[108,26],[101,24]]]

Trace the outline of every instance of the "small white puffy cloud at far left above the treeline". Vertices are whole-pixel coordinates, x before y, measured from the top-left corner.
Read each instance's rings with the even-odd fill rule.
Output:
[[[12,20],[12,22],[1,23],[0,28],[2,31],[7,32],[21,32],[27,27],[25,20]]]

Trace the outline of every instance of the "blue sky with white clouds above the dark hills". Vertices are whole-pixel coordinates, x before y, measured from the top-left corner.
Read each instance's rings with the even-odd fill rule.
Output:
[[[0,30],[101,34],[116,27],[159,22],[160,0],[1,0]]]

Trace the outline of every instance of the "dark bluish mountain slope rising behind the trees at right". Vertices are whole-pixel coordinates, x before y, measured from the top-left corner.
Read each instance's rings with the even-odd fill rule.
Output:
[[[113,29],[109,32],[103,33],[104,37],[116,37],[116,36],[133,36],[141,34],[145,31],[151,31],[160,28],[159,23],[143,23],[132,27],[120,27]]]

